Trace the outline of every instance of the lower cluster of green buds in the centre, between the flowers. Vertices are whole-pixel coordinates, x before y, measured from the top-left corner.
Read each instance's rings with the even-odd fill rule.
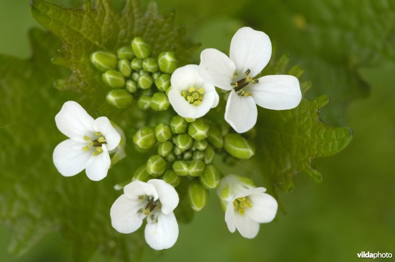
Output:
[[[208,189],[219,186],[220,172],[213,163],[216,151],[225,151],[239,159],[247,159],[255,153],[239,134],[209,126],[202,118],[186,119],[178,115],[169,123],[137,130],[133,142],[143,150],[157,146],[158,151],[136,170],[132,181],[160,178],[173,187],[187,184],[186,197],[195,211],[207,204]]]

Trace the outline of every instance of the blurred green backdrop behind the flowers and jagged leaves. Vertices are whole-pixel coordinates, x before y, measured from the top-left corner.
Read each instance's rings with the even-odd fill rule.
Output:
[[[51,0],[65,6],[78,1]],[[117,8],[122,1],[113,1]],[[376,2],[376,3],[373,3]],[[146,5],[147,1],[143,1]],[[395,11],[394,1],[158,0],[173,7],[177,24],[204,47],[225,52],[241,26],[266,32],[277,53],[306,67],[308,96],[329,94],[321,119],[354,131],[339,154],[316,159],[324,180],[296,177],[294,192],[280,194],[284,212],[261,225],[253,240],[231,234],[214,194],[165,252],[145,249],[142,261],[357,261],[361,251],[395,255]],[[359,6],[354,8],[354,6]],[[28,29],[40,25],[28,0],[0,0],[0,53],[30,56]],[[198,62],[198,53],[196,60]],[[265,184],[261,178],[254,178]],[[51,234],[21,258],[7,254],[9,231],[0,227],[0,261],[68,262],[71,245]],[[92,262],[108,261],[97,252]],[[380,260],[378,260],[380,261]]]

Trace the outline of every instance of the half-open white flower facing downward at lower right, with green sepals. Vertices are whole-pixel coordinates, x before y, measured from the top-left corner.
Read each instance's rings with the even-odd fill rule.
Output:
[[[221,179],[217,194],[226,209],[229,231],[237,229],[243,237],[254,238],[260,223],[269,223],[276,217],[277,201],[265,191],[248,178],[228,175]]]

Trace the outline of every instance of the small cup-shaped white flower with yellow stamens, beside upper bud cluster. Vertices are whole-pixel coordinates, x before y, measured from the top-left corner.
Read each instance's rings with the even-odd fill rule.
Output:
[[[202,117],[219,102],[214,85],[205,82],[197,69],[197,65],[186,65],[171,75],[169,101],[174,111],[182,117]]]

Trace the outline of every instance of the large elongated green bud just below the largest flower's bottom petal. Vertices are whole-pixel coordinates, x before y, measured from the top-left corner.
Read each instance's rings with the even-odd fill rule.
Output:
[[[231,155],[248,159],[255,154],[255,148],[239,134],[227,134],[224,139],[224,148]]]

